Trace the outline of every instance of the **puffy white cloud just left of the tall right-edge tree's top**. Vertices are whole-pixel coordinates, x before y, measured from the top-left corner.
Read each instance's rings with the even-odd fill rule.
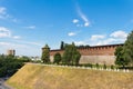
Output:
[[[125,31],[119,30],[111,33],[110,37],[125,39],[127,37],[127,33]]]

